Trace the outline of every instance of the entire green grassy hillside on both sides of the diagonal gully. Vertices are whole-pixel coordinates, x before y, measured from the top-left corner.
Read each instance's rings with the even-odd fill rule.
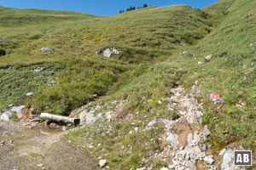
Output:
[[[88,111],[116,111],[115,121],[100,120],[67,138],[99,144],[90,151],[107,157],[113,169],[158,168],[166,162],[151,155],[163,148],[156,137],[164,125],[129,132],[155,118],[176,119],[176,111],[166,110],[170,88],[189,89],[197,80],[212,152],[228,144],[255,150],[255,7],[253,0],[222,0],[203,10],[150,7],[111,17],[0,8],[0,48],[7,52],[0,57],[0,107],[26,104],[68,115],[92,101]],[[121,53],[96,54],[108,47]],[[207,98],[211,91],[224,97],[219,109]]]

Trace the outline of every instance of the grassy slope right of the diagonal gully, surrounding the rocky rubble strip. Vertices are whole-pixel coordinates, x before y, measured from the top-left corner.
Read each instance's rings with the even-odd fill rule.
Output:
[[[253,1],[219,1],[205,8],[214,26],[211,33],[159,64],[137,66],[125,81],[111,88],[113,94],[91,103],[85,111],[95,115],[112,111],[111,122],[100,119],[67,138],[87,144],[88,150],[108,159],[114,169],[167,167],[170,161],[157,158],[166,146],[165,125],[154,120],[175,120],[177,111],[166,106],[166,97],[172,96],[168,89],[179,84],[191,88],[197,80],[198,102],[205,108],[203,123],[212,132],[208,143],[213,156],[218,157],[225,147],[255,150],[255,7]],[[212,59],[206,61],[209,54]],[[225,104],[212,105],[207,95],[211,91],[222,94]],[[145,131],[148,122],[155,124]]]

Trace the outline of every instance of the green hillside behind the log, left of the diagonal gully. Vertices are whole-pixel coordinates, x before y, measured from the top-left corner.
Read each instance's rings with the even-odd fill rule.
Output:
[[[143,71],[136,75],[148,72],[146,65],[168,58],[172,49],[191,45],[211,31],[206,13],[182,5],[112,17],[9,8],[2,13],[0,45],[7,52],[1,57],[2,107],[25,102],[38,112],[62,115],[94,99],[93,94],[106,94],[114,84],[121,87],[133,78],[137,64]],[[27,21],[15,27],[20,17]],[[33,23],[34,17],[39,23]],[[111,59],[96,54],[113,46],[121,53]],[[42,53],[42,47],[56,50]],[[44,70],[33,72],[38,67]],[[33,92],[31,97],[26,97],[28,92]]]

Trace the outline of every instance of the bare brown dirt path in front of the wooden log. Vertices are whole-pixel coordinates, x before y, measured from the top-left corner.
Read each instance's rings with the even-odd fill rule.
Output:
[[[0,122],[0,169],[99,169],[82,147],[43,124]]]

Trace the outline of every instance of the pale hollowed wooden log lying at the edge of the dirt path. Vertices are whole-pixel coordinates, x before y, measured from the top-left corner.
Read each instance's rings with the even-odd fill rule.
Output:
[[[48,120],[50,122],[58,122],[58,123],[64,123],[64,124],[71,123],[73,125],[78,125],[80,123],[80,119],[67,117],[67,116],[52,115],[49,113],[41,113],[40,118],[44,120]]]

